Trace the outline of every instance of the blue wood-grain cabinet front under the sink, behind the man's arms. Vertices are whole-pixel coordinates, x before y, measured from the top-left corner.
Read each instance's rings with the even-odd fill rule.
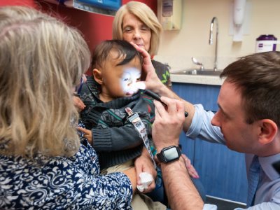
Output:
[[[221,86],[172,83],[176,94],[204,109],[216,112]],[[246,202],[247,179],[244,154],[230,151],[226,146],[200,139],[188,139],[181,134],[183,153],[193,162],[207,195]]]

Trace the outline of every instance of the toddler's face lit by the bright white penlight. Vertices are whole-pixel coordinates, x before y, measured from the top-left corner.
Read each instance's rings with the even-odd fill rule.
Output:
[[[102,92],[106,98],[116,99],[118,97],[129,97],[138,91],[134,87],[141,77],[141,63],[138,57],[134,57],[125,65],[117,65],[121,59],[113,59],[116,55],[114,52],[109,56],[108,62],[104,64],[102,72]]]

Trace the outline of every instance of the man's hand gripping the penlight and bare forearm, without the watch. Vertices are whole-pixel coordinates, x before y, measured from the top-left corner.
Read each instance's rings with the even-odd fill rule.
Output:
[[[152,135],[158,152],[167,146],[179,145],[179,136],[185,121],[183,102],[167,97],[160,99],[167,104],[167,107],[154,101],[155,122]],[[174,162],[162,163],[161,169],[171,209],[203,209],[204,203],[190,180],[183,157]],[[176,174],[176,179],[174,179],[174,174]]]

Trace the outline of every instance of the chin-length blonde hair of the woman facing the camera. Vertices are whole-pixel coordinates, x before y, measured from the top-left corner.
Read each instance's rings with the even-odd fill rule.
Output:
[[[158,22],[158,18],[145,3],[139,1],[130,1],[121,6],[113,20],[113,39],[123,40],[123,18],[125,14],[131,13],[151,29],[151,47],[148,50],[150,55],[155,55],[158,52],[160,45],[160,35],[162,33],[162,25]]]

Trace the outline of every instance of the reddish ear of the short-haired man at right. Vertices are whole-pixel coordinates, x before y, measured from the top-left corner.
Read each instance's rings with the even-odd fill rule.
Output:
[[[260,144],[269,144],[272,142],[278,132],[278,127],[273,120],[264,119],[260,120],[260,134],[259,142]]]

